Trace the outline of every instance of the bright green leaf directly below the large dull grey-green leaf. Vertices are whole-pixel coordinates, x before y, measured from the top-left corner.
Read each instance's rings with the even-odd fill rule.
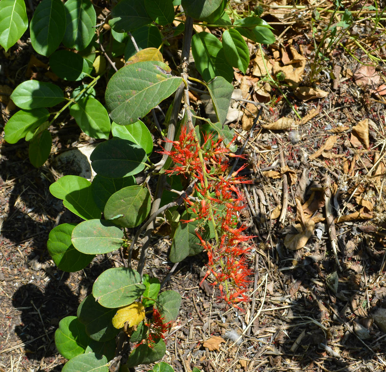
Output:
[[[153,151],[153,139],[150,130],[147,129],[146,125],[141,120],[129,125],[118,125],[117,123],[112,122],[111,133],[114,137],[127,139],[141,146],[142,149],[146,151],[147,156]]]

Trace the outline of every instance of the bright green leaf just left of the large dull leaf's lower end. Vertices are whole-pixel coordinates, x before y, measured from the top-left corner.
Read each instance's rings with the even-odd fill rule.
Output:
[[[71,105],[70,114],[80,129],[90,137],[108,139],[110,118],[102,103],[95,98],[80,98]]]

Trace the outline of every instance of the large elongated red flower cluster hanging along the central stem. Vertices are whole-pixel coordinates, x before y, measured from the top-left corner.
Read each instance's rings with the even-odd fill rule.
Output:
[[[213,135],[206,135],[203,142],[200,146],[195,132],[182,127],[179,140],[173,141],[173,149],[163,152],[174,161],[174,166],[166,172],[198,179],[196,201],[186,199],[189,211],[195,216],[184,222],[200,221],[196,234],[208,254],[208,271],[204,279],[213,274],[213,285],[218,285],[220,298],[238,308],[236,303],[248,300],[246,293],[251,270],[245,257],[253,248],[250,244],[253,237],[245,236],[242,232],[246,227],[239,226],[239,213],[246,206],[239,185],[251,181],[237,176],[243,167],[229,177],[225,174],[229,167],[228,158],[237,156],[230,152],[230,144],[224,146],[222,140],[215,141]],[[204,240],[206,223],[213,224],[215,240]]]

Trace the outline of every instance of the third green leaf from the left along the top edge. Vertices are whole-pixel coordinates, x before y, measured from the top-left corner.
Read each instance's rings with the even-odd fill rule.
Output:
[[[64,3],[66,11],[66,32],[63,44],[81,51],[90,44],[94,33],[97,15],[90,0],[67,0]]]

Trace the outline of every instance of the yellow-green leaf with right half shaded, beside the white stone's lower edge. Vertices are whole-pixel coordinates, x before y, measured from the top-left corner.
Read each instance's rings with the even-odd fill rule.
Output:
[[[100,211],[92,198],[91,183],[79,176],[63,176],[51,184],[49,191],[63,200],[63,205],[84,220],[100,218]]]

